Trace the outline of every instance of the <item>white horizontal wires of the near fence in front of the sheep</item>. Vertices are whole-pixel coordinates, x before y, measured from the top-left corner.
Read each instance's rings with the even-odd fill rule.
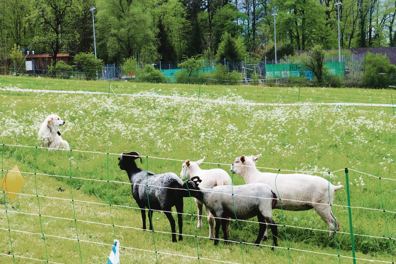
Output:
[[[11,146],[11,147],[21,147],[21,148],[41,148],[41,149],[50,149],[50,148],[44,148],[44,147],[36,147],[36,146],[23,146],[23,145],[14,145],[14,144],[2,144],[3,147],[4,146]],[[59,150],[59,149],[51,149],[51,150]],[[93,151],[84,151],[84,150],[60,150],[60,151],[69,151],[69,152],[85,152],[85,153],[91,153],[91,154],[105,154],[105,155],[116,155],[119,156],[120,154],[116,154],[116,153],[108,153],[108,152],[93,152]],[[128,154],[123,154],[123,156],[130,156]],[[134,156],[137,157],[137,156]],[[170,158],[161,158],[161,157],[154,157],[154,156],[138,156],[138,157],[142,157],[142,158],[153,158],[153,159],[160,159],[160,160],[169,160],[169,161],[181,161],[181,162],[185,162],[183,160],[176,160],[176,159],[170,159]],[[71,161],[71,160],[70,160]],[[212,164],[212,165],[229,165],[231,166],[232,164],[227,164],[227,163],[210,163],[210,162],[203,162],[203,163],[207,163],[207,164]],[[3,165],[3,161],[2,161],[2,165]],[[244,165],[240,165],[240,166],[244,166]],[[274,168],[267,168],[267,167],[257,167],[260,169],[269,169],[269,170],[276,170],[276,171],[280,171],[279,169],[274,169]],[[288,171],[288,172],[293,172],[293,173],[318,173],[320,175],[330,175],[339,171],[343,171],[344,169],[339,169],[333,172],[324,172],[324,171],[296,171],[296,170],[282,170],[282,171]],[[362,173],[364,175],[367,175],[369,177],[374,177],[376,179],[386,179],[386,180],[396,180],[396,179],[390,179],[390,178],[382,178],[382,177],[377,177],[375,175],[371,175],[368,173],[363,173],[361,171],[358,170],[354,170],[354,169],[349,169],[350,171],[355,171],[357,173]],[[16,171],[12,171],[12,170],[6,170],[6,169],[2,169],[2,172],[16,172]],[[116,181],[116,180],[101,180],[101,179],[88,179],[88,178],[83,178],[83,177],[73,177],[73,176],[65,176],[65,175],[53,175],[53,174],[45,174],[45,173],[37,173],[37,172],[24,172],[24,171],[20,171],[20,173],[22,174],[27,174],[27,175],[41,175],[41,176],[48,176],[48,177],[61,177],[61,178],[70,178],[70,179],[78,179],[78,180],[90,180],[90,181],[99,181],[99,182],[112,182],[112,183],[117,183],[117,184],[128,184],[128,185],[133,185],[130,182],[121,182],[121,181]],[[92,175],[94,177],[94,175]],[[348,183],[346,183],[348,184]],[[147,185],[147,184],[137,184],[137,185],[143,185],[143,186],[150,186],[150,187],[156,187],[156,188],[167,188],[167,189],[177,189],[177,188],[169,188],[169,187],[162,187],[162,186],[155,186],[155,185]],[[210,191],[205,191],[205,192],[210,192]],[[3,193],[9,193],[9,194],[17,194],[17,193],[13,193],[13,192],[6,192],[3,191]],[[84,200],[79,200],[79,199],[66,199],[66,198],[59,198],[59,197],[52,197],[52,196],[45,196],[45,195],[38,195],[38,194],[22,194],[19,193],[18,195],[22,195],[22,196],[28,196],[28,197],[40,197],[40,198],[46,198],[46,199],[57,199],[57,200],[62,200],[62,201],[72,201],[72,202],[80,202],[80,203],[88,203],[88,204],[97,204],[97,205],[106,205],[106,206],[113,206],[113,207],[119,207],[119,208],[128,208],[128,209],[138,209],[140,210],[141,208],[139,207],[132,207],[132,206],[127,206],[127,205],[115,205],[115,204],[111,204],[111,203],[100,203],[100,202],[92,202],[92,201],[84,201]],[[230,195],[230,194],[228,194]],[[240,194],[233,194],[235,196],[246,196],[246,197],[251,197],[251,198],[261,198],[261,197],[256,197],[256,196],[247,196],[247,195],[240,195]],[[4,198],[5,199],[5,198]],[[261,199],[269,199],[269,198],[261,198]],[[300,201],[300,200],[293,200],[293,199],[283,199],[282,200],[287,200],[287,201],[295,201],[295,202],[306,202],[306,201]],[[5,200],[4,200],[5,202]],[[328,206],[337,206],[337,207],[346,207],[346,208],[355,208],[355,209],[365,209],[365,210],[372,210],[372,211],[383,211],[384,213],[392,213],[392,214],[396,214],[396,211],[389,211],[389,210],[385,210],[385,209],[376,209],[376,208],[368,208],[368,207],[358,207],[358,206],[348,206],[348,205],[338,205],[338,204],[333,204],[333,205],[329,205],[328,203],[314,203],[314,202],[310,202],[310,204],[320,204],[320,205],[328,205]],[[6,206],[6,205],[5,205]],[[146,211],[150,211],[150,209],[144,209]],[[162,211],[162,210],[153,210],[152,211]],[[0,209],[0,212],[2,213],[11,213],[11,214],[21,214],[21,215],[32,215],[32,216],[38,216],[43,217],[43,218],[56,218],[56,219],[61,219],[61,220],[67,220],[67,221],[74,221],[74,222],[81,222],[81,223],[86,223],[86,224],[95,224],[95,225],[101,225],[101,226],[115,226],[118,228],[128,228],[128,229],[133,229],[133,230],[141,230],[143,231],[143,228],[136,228],[133,226],[124,226],[124,225],[118,225],[118,224],[106,224],[106,223],[101,223],[101,222],[93,222],[93,221],[88,221],[88,220],[82,220],[82,219],[77,219],[77,218],[67,218],[67,217],[59,217],[59,216],[54,216],[54,215],[43,215],[43,214],[36,214],[36,213],[27,213],[27,212],[21,212],[21,211],[15,211],[15,210],[10,210],[10,209],[5,209],[2,210]],[[168,212],[168,211],[162,211],[162,212]],[[177,212],[173,212],[173,211],[169,211],[170,213],[173,214],[178,214]],[[190,216],[195,216],[197,217],[197,214],[193,214],[191,213],[181,213],[182,215],[190,215]],[[207,217],[207,216],[204,216]],[[221,218],[221,219],[227,219],[227,218]],[[232,221],[241,221],[241,222],[251,222],[251,223],[257,223],[256,221],[252,221],[252,220],[236,220],[236,219],[230,219]],[[311,231],[319,231],[319,232],[325,232],[325,233],[329,233],[329,230],[322,230],[322,229],[316,229],[316,228],[308,228],[308,227],[303,227],[303,226],[293,226],[293,225],[286,225],[286,224],[274,224],[276,226],[284,226],[289,227],[289,228],[299,228],[299,229],[305,229],[305,230],[311,230]],[[39,235],[39,236],[48,236],[48,237],[55,237],[55,238],[59,238],[59,239],[68,239],[68,240],[74,240],[74,241],[82,241],[82,242],[86,242],[86,243],[93,243],[93,244],[97,244],[97,245],[105,245],[108,246],[109,248],[112,246],[110,244],[106,244],[106,243],[101,243],[101,242],[97,242],[97,241],[88,241],[88,240],[82,240],[82,239],[78,239],[78,238],[70,238],[70,237],[63,237],[63,236],[56,236],[53,234],[46,234],[43,232],[43,234],[40,233],[34,233],[34,232],[28,232],[28,231],[24,231],[24,230],[15,230],[15,229],[11,229],[10,227],[8,228],[2,228],[0,227],[0,230],[4,230],[4,231],[8,231],[8,232],[19,232],[19,233],[25,233],[25,234],[31,234],[31,235]],[[162,234],[173,234],[171,232],[164,232],[164,231],[158,231],[158,230],[150,230],[151,232],[155,232],[155,233],[162,233]],[[350,235],[350,233],[348,232],[339,232],[337,231],[337,234],[345,234],[345,235]],[[209,239],[209,237],[203,237],[203,236],[197,236],[197,235],[192,235],[192,234],[183,234],[184,236],[188,236],[188,237],[199,237],[199,238],[203,238],[203,239]],[[371,238],[375,238],[375,239],[389,239],[390,241],[394,241],[396,240],[396,238],[394,237],[385,237],[385,236],[371,236],[371,235],[366,235],[366,234],[354,234],[355,236],[361,236],[361,237],[371,237]],[[11,239],[11,238],[10,238]],[[224,239],[220,239],[221,241],[225,241]],[[242,242],[242,241],[233,241],[233,240],[227,240],[229,242],[233,242],[233,243],[242,243],[242,244],[246,244],[246,245],[256,245],[253,243],[247,243],[247,242]],[[391,242],[392,243],[392,242]],[[271,245],[259,245],[261,247],[272,247]],[[181,257],[187,257],[187,258],[194,258],[194,259],[202,259],[202,260],[209,260],[209,261],[213,261],[213,262],[222,262],[222,263],[235,263],[235,262],[227,262],[227,261],[222,261],[222,260],[215,260],[215,259],[210,259],[210,258],[202,258],[200,256],[195,257],[195,256],[188,256],[188,255],[179,255],[179,254],[175,254],[175,253],[167,253],[167,252],[160,252],[160,251],[150,251],[147,249],[139,249],[139,248],[134,248],[134,247],[126,247],[126,246],[121,246],[124,249],[131,249],[131,250],[138,250],[138,251],[146,251],[146,252],[150,252],[150,253],[160,253],[160,254],[165,254],[165,255],[174,255],[174,256],[181,256]],[[291,247],[275,247],[278,249],[287,249],[287,250],[295,250],[295,251],[301,251],[301,252],[307,252],[307,253],[313,253],[313,254],[320,254],[320,255],[328,255],[328,256],[335,256],[335,257],[342,257],[342,258],[348,258],[348,259],[355,259],[355,260],[364,260],[364,261],[369,261],[369,262],[381,262],[381,263],[393,263],[393,257],[392,257],[392,262],[389,261],[384,261],[384,260],[372,260],[372,259],[365,259],[365,258],[353,258],[350,256],[344,256],[344,255],[334,255],[334,254],[328,254],[328,253],[323,253],[323,252],[316,252],[316,251],[308,251],[308,250],[304,250],[304,249],[296,249],[296,248],[291,248]],[[392,249],[393,251],[393,249]],[[58,262],[52,262],[49,260],[43,260],[43,259],[37,259],[37,258],[31,258],[31,257],[26,257],[26,256],[18,256],[18,255],[10,255],[10,254],[3,254],[0,253],[0,255],[4,255],[4,256],[9,256],[9,257],[17,257],[17,258],[23,258],[23,259],[30,259],[30,260],[35,260],[35,261],[44,261],[44,262],[48,262],[48,263],[58,263]]]

